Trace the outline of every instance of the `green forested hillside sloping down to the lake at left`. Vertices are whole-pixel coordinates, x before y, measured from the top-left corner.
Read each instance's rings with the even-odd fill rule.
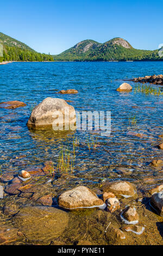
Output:
[[[53,57],[49,54],[42,54],[34,51],[23,42],[17,41],[8,35],[0,32],[0,44],[3,45],[3,57],[0,62],[16,60],[16,61],[53,61]]]

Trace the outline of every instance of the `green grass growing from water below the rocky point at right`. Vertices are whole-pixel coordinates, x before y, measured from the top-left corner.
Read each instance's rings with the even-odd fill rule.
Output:
[[[163,95],[163,92],[161,92],[160,88],[156,88],[152,86],[152,84],[141,84],[141,83],[136,83],[135,88],[134,88],[134,93],[145,93],[146,95],[155,95],[155,96],[160,96]]]

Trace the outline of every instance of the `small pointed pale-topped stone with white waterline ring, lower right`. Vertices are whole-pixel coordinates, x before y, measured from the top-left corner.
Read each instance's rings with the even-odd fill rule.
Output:
[[[121,219],[126,224],[137,224],[139,222],[139,215],[134,207],[127,207],[123,210]]]

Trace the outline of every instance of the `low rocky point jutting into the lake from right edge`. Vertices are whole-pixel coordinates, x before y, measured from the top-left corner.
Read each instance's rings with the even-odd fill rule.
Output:
[[[140,82],[140,83],[153,83],[153,84],[159,84],[163,85],[163,75],[153,75],[153,76],[145,76],[145,77],[135,77],[133,79],[134,82]]]

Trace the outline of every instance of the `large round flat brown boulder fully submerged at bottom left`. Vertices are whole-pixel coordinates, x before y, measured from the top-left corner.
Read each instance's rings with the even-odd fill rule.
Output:
[[[12,224],[30,242],[48,244],[64,232],[68,214],[52,207],[26,206],[12,218]]]

